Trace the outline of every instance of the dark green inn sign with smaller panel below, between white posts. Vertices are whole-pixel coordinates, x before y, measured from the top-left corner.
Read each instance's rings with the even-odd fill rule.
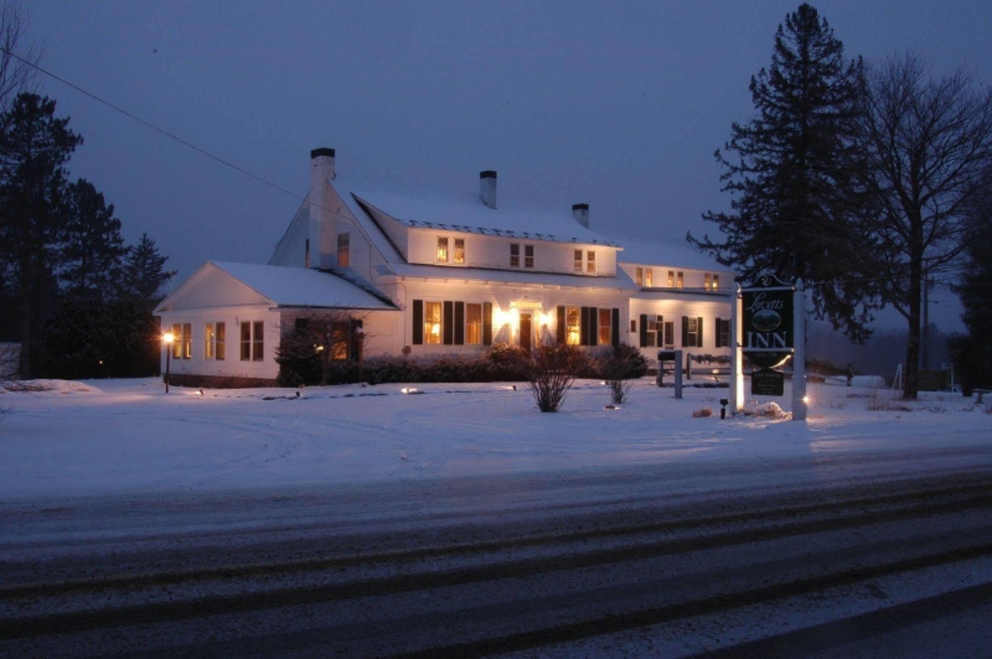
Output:
[[[783,395],[785,374],[776,370],[796,346],[794,297],[796,286],[774,275],[761,275],[741,288],[744,356],[758,370],[751,374],[751,393]]]

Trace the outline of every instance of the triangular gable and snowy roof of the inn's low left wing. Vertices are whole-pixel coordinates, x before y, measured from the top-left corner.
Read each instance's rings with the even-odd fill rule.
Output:
[[[243,304],[324,309],[396,310],[347,279],[317,270],[208,261],[170,293],[156,312]]]

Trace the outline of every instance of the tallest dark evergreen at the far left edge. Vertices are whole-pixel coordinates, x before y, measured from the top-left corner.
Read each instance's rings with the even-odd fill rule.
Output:
[[[22,93],[0,114],[0,253],[18,305],[24,378],[31,377],[36,323],[54,290],[64,165],[82,142],[55,110],[54,100]]]

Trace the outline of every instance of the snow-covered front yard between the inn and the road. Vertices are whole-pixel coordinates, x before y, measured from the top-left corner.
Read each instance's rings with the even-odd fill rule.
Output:
[[[416,386],[418,394],[403,393]],[[157,380],[49,381],[0,393],[0,500],[213,492],[711,461],[988,446],[992,413],[959,394],[894,400],[885,388],[811,384],[807,423],[719,418],[725,388],[682,400],[650,379],[604,409],[580,381],[558,414],[526,384],[197,389]],[[787,409],[790,398],[774,400]],[[756,401],[749,400],[749,403]],[[695,418],[694,410],[713,414]],[[984,452],[975,460],[986,461]],[[770,475],[774,476],[774,475]]]

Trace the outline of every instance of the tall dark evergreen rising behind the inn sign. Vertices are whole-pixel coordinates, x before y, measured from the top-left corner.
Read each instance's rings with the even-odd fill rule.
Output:
[[[863,341],[877,308],[871,286],[859,282],[856,198],[857,101],[863,64],[844,57],[826,19],[803,4],[775,34],[768,70],[751,78],[757,116],[734,123],[722,166],[722,191],[732,212],[703,214],[725,237],[689,242],[741,277],[763,272],[802,277],[813,308],[834,329]],[[797,328],[799,331],[799,328]]]

